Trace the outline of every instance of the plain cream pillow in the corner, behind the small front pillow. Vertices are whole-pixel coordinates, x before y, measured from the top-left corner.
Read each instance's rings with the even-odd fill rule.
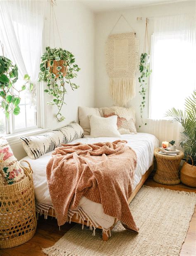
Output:
[[[103,112],[99,108],[88,108],[88,107],[78,107],[79,110],[79,124],[84,130],[84,135],[90,135],[91,127],[89,123],[88,115],[97,115],[103,117]]]

